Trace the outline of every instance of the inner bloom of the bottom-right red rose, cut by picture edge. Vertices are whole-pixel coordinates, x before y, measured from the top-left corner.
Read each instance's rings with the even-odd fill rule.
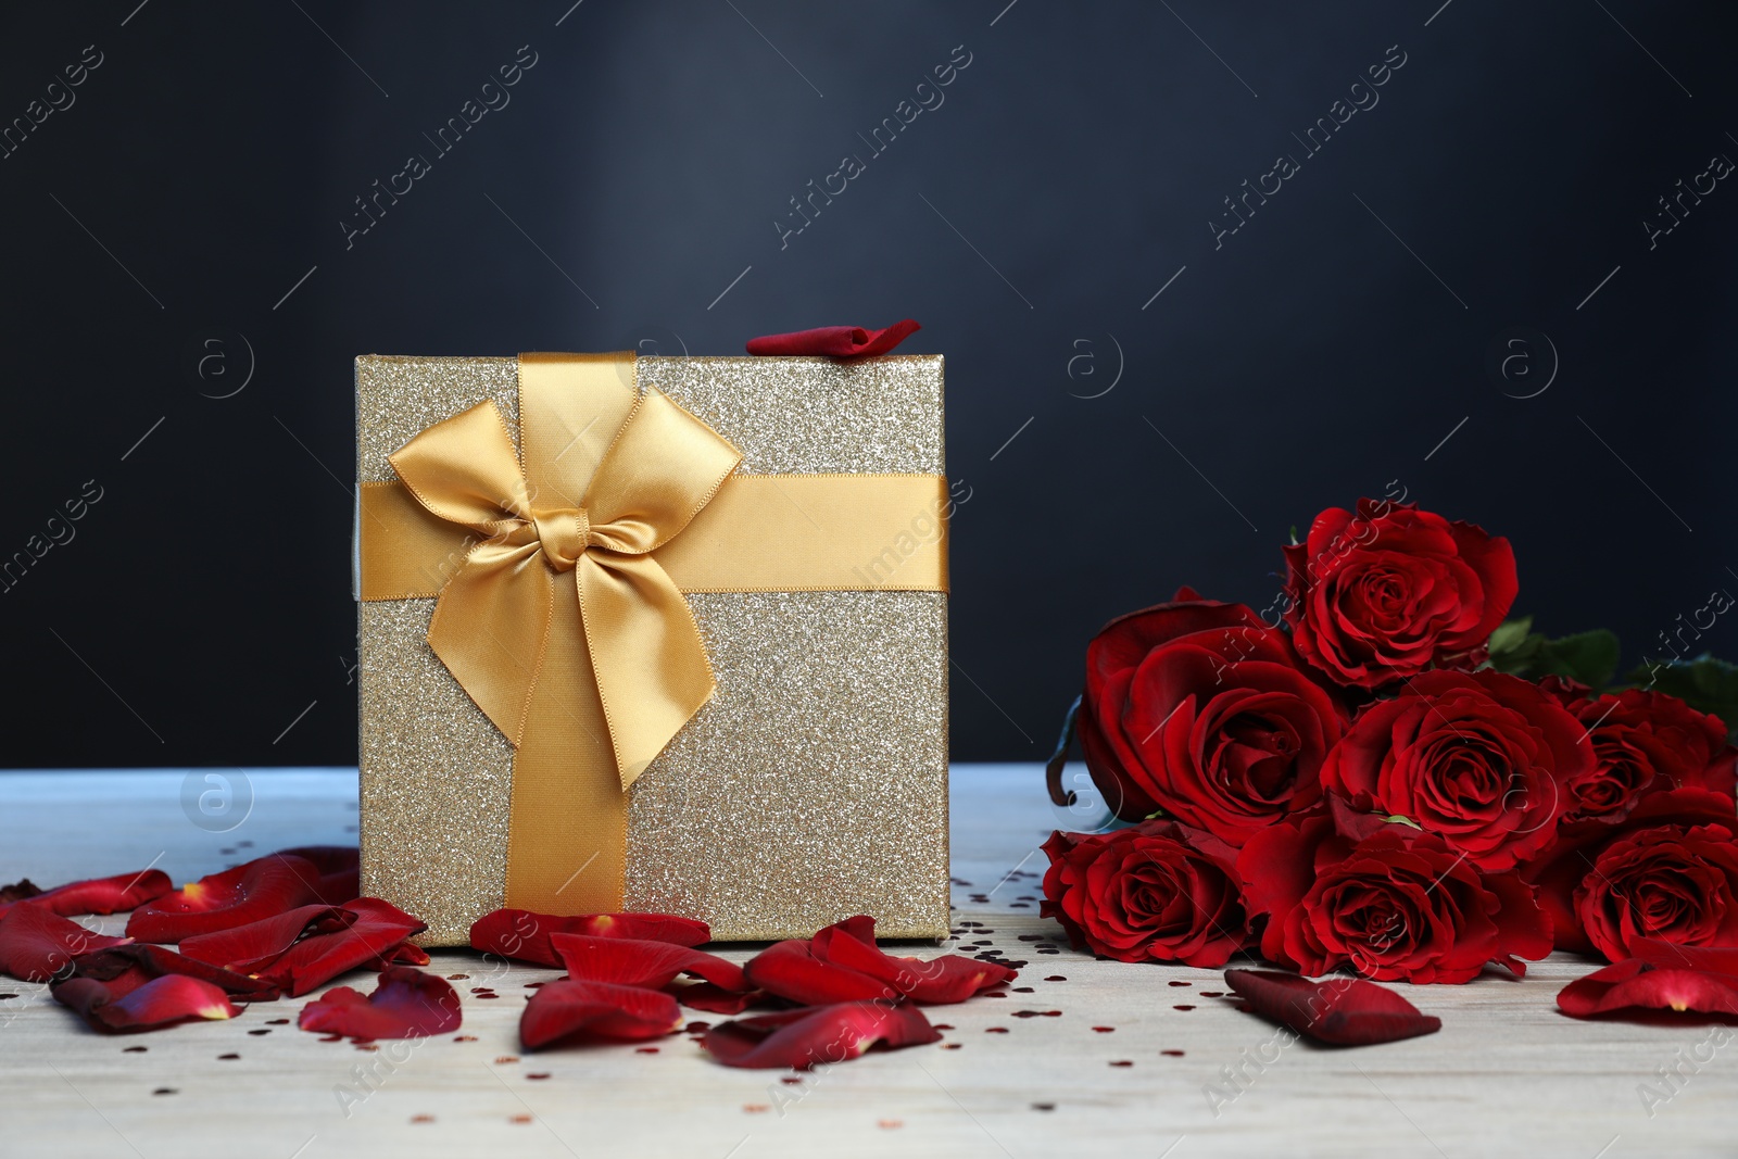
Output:
[[[1575,890],[1582,930],[1611,961],[1634,944],[1738,945],[1733,825],[1660,825],[1608,844]]]

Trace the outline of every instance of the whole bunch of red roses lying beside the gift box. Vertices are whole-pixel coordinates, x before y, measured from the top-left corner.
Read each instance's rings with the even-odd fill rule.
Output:
[[[1611,632],[1505,622],[1509,540],[1416,504],[1324,511],[1284,565],[1265,612],[1185,587],[1088,645],[1050,794],[1078,735],[1116,827],[1045,846],[1076,947],[1404,982],[1738,961],[1738,669],[1618,686]]]

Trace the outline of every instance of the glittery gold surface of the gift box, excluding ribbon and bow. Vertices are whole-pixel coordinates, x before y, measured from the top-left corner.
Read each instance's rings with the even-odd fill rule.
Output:
[[[942,474],[942,360],[641,358],[742,452],[742,471]],[[358,480],[494,398],[514,358],[356,360]],[[688,605],[718,692],[634,784],[624,907],[718,940],[808,937],[871,914],[947,933],[947,596],[704,593]],[[462,945],[504,898],[513,749],[424,639],[433,599],[358,605],[363,891]]]

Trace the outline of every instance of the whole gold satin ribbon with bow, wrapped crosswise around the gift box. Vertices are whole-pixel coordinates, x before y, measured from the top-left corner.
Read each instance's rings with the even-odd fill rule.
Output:
[[[945,480],[735,474],[633,354],[521,354],[363,485],[362,598],[438,596],[429,646],[514,745],[506,902],[620,907],[626,789],[714,690],[683,591],[945,591]]]

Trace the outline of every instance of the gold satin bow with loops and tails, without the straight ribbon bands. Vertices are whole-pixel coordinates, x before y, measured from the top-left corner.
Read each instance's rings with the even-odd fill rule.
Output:
[[[483,542],[447,580],[429,646],[514,747],[551,646],[554,605],[579,601],[584,646],[622,789],[714,688],[688,603],[652,558],[711,502],[742,455],[657,387],[641,394],[577,502],[532,492],[494,401],[389,455],[429,513]]]

